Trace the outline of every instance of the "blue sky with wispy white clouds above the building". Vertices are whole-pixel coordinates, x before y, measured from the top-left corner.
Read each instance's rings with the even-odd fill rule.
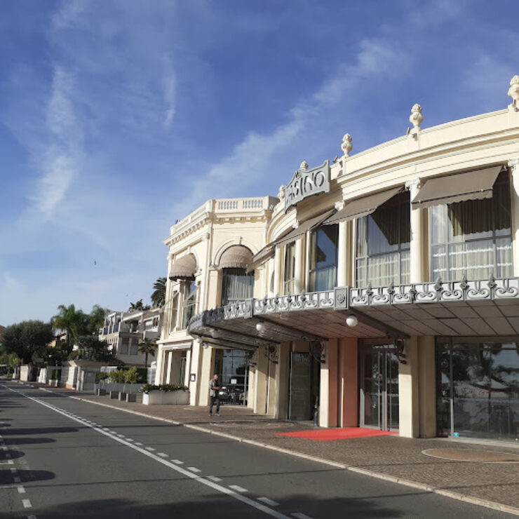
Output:
[[[126,310],[207,198],[503,109],[516,1],[3,1],[0,323]],[[96,262],[97,264],[94,264]]]

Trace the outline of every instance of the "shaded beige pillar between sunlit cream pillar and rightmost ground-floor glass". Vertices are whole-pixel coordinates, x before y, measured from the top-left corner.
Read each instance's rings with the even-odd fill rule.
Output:
[[[434,337],[418,337],[420,438],[436,437],[436,356]]]

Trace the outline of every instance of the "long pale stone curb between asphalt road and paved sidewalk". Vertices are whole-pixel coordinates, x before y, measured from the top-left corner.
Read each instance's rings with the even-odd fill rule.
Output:
[[[58,393],[57,391],[50,391],[49,389],[43,389],[44,391],[48,391],[49,393],[55,394],[63,394]],[[127,412],[130,414],[135,414],[140,417],[149,418],[153,420],[158,420],[159,422],[166,422],[168,424],[184,426],[187,429],[193,429],[194,431],[200,431],[203,433],[214,434],[215,436],[220,436],[222,438],[227,438],[229,440],[234,440],[240,443],[247,443],[248,445],[255,445],[256,447],[263,447],[265,449],[273,450],[276,452],[281,452],[283,454],[288,454],[293,457],[299,457],[302,459],[306,459],[307,461],[316,461],[317,463],[325,464],[328,466],[333,466],[336,469],[344,469],[347,471],[363,474],[364,476],[370,476],[372,478],[377,478],[385,481],[389,481],[391,483],[396,483],[398,485],[404,485],[406,487],[416,488],[418,490],[424,490],[424,492],[431,492],[433,494],[438,494],[445,497],[450,497],[451,499],[457,499],[458,501],[464,501],[465,503],[476,504],[478,506],[485,506],[485,508],[492,508],[493,510],[498,510],[505,513],[511,513],[513,515],[519,515],[519,508],[515,506],[509,506],[506,504],[498,503],[497,501],[490,501],[488,499],[481,499],[479,497],[471,497],[466,494],[460,494],[459,492],[453,492],[452,490],[445,490],[438,487],[433,487],[431,485],[426,485],[425,483],[417,483],[411,480],[405,480],[403,478],[397,478],[396,476],[389,476],[387,474],[382,474],[375,471],[370,471],[369,469],[363,469],[357,466],[349,466],[346,464],[339,463],[337,461],[331,461],[329,459],[324,459],[320,457],[311,456],[308,454],[304,454],[303,452],[298,452],[295,450],[285,449],[284,447],[276,447],[275,445],[269,445],[268,443],[262,443],[256,440],[248,440],[247,438],[241,438],[240,436],[234,436],[228,433],[222,433],[220,431],[212,431],[211,429],[205,429],[203,426],[197,426],[192,424],[184,424],[182,422],[176,422],[175,420],[170,420],[167,418],[161,418],[153,416],[152,414],[146,414],[144,412],[133,411],[130,409],[123,409],[121,407],[116,407],[115,405],[109,405],[102,402],[95,402],[93,400],[88,400],[86,398],[81,398],[79,396],[71,396],[71,395],[63,395],[68,398],[72,398],[74,400],[80,400],[81,402],[91,403],[94,405],[100,405],[102,407],[109,407],[110,409],[119,410],[121,412]]]

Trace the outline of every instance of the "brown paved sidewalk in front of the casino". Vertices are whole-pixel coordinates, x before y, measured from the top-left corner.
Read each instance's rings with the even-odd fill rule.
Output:
[[[34,384],[36,385],[36,384]],[[410,439],[377,436],[345,440],[316,441],[276,433],[314,429],[309,424],[295,424],[253,414],[242,407],[222,406],[220,417],[209,417],[207,407],[182,405],[142,405],[110,400],[65,389],[50,389],[81,400],[109,405],[121,410],[145,414],[157,419],[178,422],[210,433],[229,435],[296,454],[325,460],[345,469],[368,473],[451,495],[457,499],[484,504],[519,515],[519,463],[483,463],[452,461],[427,456],[427,449],[456,448],[473,451],[519,454],[519,446],[510,443],[466,443],[441,438]]]

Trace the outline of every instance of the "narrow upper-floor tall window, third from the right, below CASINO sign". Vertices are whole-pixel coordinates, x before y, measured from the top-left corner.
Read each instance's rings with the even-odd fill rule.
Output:
[[[337,284],[339,224],[322,225],[311,234],[310,290],[331,290]]]

